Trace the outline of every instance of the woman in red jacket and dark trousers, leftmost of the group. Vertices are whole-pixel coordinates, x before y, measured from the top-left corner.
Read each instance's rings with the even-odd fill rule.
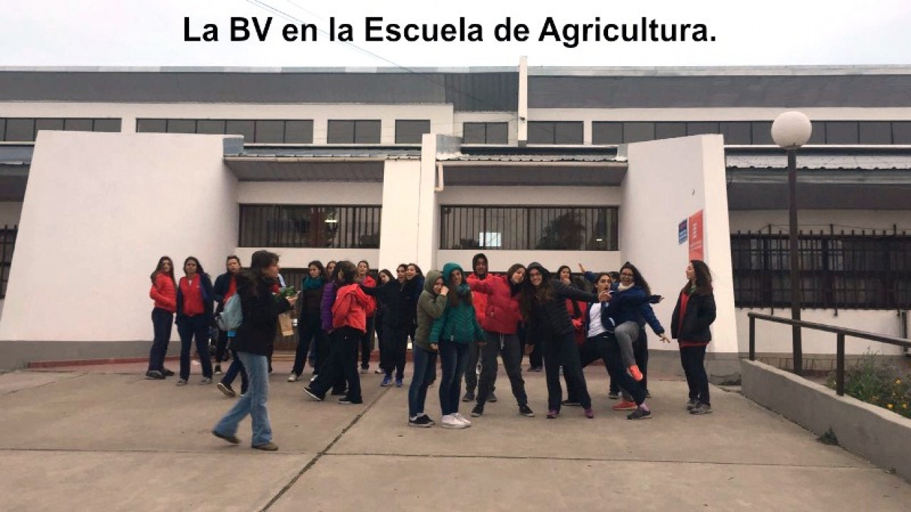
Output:
[[[174,282],[174,262],[168,256],[159,258],[159,264],[151,275],[152,288],[148,296],[155,301],[152,309],[152,328],[155,337],[148,352],[146,378],[162,380],[174,374],[165,368],[165,354],[168,353],[171,323],[177,311],[177,284]]]

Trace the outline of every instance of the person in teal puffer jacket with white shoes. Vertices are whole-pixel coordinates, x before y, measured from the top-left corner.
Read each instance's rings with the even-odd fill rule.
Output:
[[[440,378],[441,421],[445,428],[465,428],[471,422],[458,412],[462,377],[468,362],[468,344],[485,343],[486,336],[477,323],[471,302],[471,289],[465,275],[456,263],[443,266],[443,281],[449,289],[443,316],[435,320],[430,330],[430,343],[437,346],[442,366]]]

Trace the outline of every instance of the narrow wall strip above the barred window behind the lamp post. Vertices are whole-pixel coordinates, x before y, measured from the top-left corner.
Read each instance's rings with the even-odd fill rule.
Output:
[[[911,200],[909,200],[911,204]],[[738,230],[763,231],[772,224],[773,233],[779,230],[788,231],[788,210],[735,210],[730,213],[731,232]],[[834,226],[834,232],[850,233],[855,230],[897,230],[911,231],[911,210],[799,210],[797,223],[804,232],[824,230],[829,232],[829,226]]]

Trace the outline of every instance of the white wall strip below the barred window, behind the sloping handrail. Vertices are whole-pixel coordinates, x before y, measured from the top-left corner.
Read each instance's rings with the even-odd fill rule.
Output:
[[[750,319],[749,312],[774,314],[782,318],[791,318],[789,308],[769,309],[738,309],[737,310],[737,336],[740,339],[740,352],[750,351]],[[867,311],[867,310],[803,310],[801,320],[804,322],[824,323],[856,329],[867,333],[885,334],[886,336],[901,336],[901,321],[896,311]],[[804,354],[810,353],[835,353],[835,335],[823,333],[812,329],[804,329],[801,334]],[[792,353],[791,326],[783,323],[756,321],[756,352],[757,353]],[[845,338],[844,353],[882,353],[884,355],[899,355],[905,349],[888,343],[876,343],[857,338]]]

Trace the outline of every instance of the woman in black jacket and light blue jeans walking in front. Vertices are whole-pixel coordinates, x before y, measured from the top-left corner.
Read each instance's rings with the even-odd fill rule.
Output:
[[[297,302],[297,297],[282,298],[275,293],[278,275],[278,254],[256,251],[250,271],[239,277],[237,292],[241,296],[243,322],[233,343],[250,377],[250,387],[212,429],[212,435],[237,445],[241,442],[237,437],[238,424],[249,414],[253,429],[251,446],[268,451],[275,451],[278,446],[272,443],[272,428],[266,409],[269,399],[269,363],[266,356],[271,353],[279,314],[289,311]]]

